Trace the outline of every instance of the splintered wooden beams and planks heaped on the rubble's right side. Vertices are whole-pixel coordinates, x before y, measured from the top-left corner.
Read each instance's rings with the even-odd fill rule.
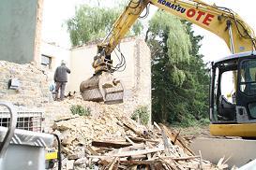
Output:
[[[93,141],[89,158],[99,169],[225,169],[220,159],[217,165],[204,161],[201,152],[193,153],[186,141],[169,128],[154,123],[153,131],[142,131],[132,122],[119,124],[128,135],[126,141]]]

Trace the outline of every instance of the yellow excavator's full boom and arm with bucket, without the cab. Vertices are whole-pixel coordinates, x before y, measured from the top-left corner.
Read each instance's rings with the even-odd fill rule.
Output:
[[[81,84],[84,100],[123,102],[123,87],[112,75],[115,69],[113,69],[111,53],[138,20],[143,10],[145,8],[148,10],[149,5],[154,5],[218,35],[226,42],[232,53],[255,49],[252,29],[229,8],[207,5],[201,0],[130,0],[128,7],[114,22],[110,33],[98,44],[98,55],[93,62],[95,75]],[[108,98],[108,96],[112,97]]]

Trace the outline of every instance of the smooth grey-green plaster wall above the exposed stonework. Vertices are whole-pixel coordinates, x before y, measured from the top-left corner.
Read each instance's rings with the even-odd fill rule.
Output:
[[[38,0],[0,1],[0,60],[34,60]]]

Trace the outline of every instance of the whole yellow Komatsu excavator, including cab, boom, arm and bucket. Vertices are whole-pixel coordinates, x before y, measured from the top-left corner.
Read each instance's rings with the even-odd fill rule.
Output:
[[[226,42],[232,55],[212,63],[210,132],[212,135],[256,137],[254,32],[230,8],[208,5],[201,0],[131,0],[110,33],[98,44],[93,62],[95,75],[81,83],[83,99],[109,104],[123,102],[123,86],[112,75],[115,69],[111,54],[143,10],[148,12],[149,5],[197,24]],[[233,85],[226,82],[230,74]]]

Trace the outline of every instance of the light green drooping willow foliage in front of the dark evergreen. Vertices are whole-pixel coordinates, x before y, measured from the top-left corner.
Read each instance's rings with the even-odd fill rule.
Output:
[[[149,29],[153,37],[165,37],[167,54],[170,63],[189,62],[191,42],[186,27],[180,20],[165,11],[158,10],[149,21]],[[161,42],[163,43],[163,42]]]

